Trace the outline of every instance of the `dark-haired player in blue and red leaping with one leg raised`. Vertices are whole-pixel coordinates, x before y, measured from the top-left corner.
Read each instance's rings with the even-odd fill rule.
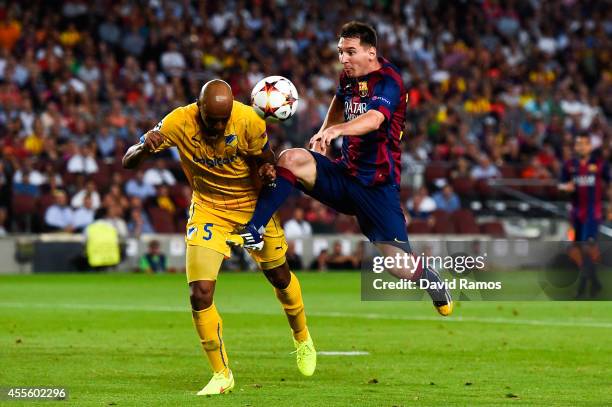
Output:
[[[383,254],[397,253],[398,246],[410,252],[399,194],[406,90],[398,68],[378,56],[376,43],[376,31],[367,24],[352,21],[342,27],[338,55],[344,69],[323,125],[310,139],[312,150],[283,151],[276,167],[263,169],[260,175],[271,184],[262,188],[251,221],[228,243],[261,247],[263,226],[296,187],[339,212],[355,215],[363,234]],[[340,136],[342,157],[332,161],[324,154]],[[391,272],[411,280],[441,281],[429,268]],[[450,315],[448,291],[427,291],[438,312]]]

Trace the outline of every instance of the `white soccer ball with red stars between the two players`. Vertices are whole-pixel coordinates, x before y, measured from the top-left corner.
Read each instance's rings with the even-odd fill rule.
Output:
[[[251,92],[251,105],[264,120],[285,121],[297,111],[297,89],[282,76],[263,78]]]

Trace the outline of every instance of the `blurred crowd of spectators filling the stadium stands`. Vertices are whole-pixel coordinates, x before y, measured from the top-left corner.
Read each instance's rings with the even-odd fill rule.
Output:
[[[605,2],[4,2],[0,234],[79,231],[100,210],[124,236],[182,231],[190,192],[176,155],[132,173],[120,165],[127,146],[195,100],[206,80],[227,80],[247,102],[272,74],[300,91],[296,117],[270,126],[273,148],[304,145],[335,91],[337,30],[347,19],[372,23],[379,53],[403,71],[408,218],[457,210],[491,177],[553,184],[579,133],[612,159]],[[355,230],[350,218],[295,199],[303,209],[295,233],[303,220],[308,233]]]

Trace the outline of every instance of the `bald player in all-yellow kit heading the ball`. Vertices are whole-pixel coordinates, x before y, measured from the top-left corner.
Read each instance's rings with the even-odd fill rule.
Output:
[[[234,101],[230,86],[219,79],[207,82],[196,103],[170,112],[154,129],[131,146],[125,168],[176,146],[193,189],[185,242],[186,268],[193,321],[212,370],[210,382],[198,395],[223,394],[234,378],[223,342],[223,323],[213,302],[217,274],[230,255],[226,238],[246,223],[255,207],[256,180],[272,170],[266,124],[250,106]],[[251,252],[274,286],[289,320],[297,364],[306,376],[314,373],[316,351],[306,327],[300,283],[285,260],[287,243],[278,217],[265,227],[263,248]]]

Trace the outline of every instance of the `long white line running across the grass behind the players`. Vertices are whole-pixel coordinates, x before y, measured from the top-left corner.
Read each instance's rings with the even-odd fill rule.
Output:
[[[180,306],[134,306],[134,305],[112,305],[112,304],[45,304],[45,303],[21,303],[21,302],[0,302],[0,308],[50,308],[68,310],[89,310],[89,311],[137,311],[137,312],[189,312],[189,307]],[[278,312],[253,312],[251,310],[224,310],[224,314],[250,314],[250,315],[279,315]],[[425,322],[474,322],[481,324],[500,324],[500,325],[531,325],[531,326],[552,326],[552,327],[584,327],[584,328],[604,328],[612,329],[611,321],[585,321],[585,320],[539,320],[539,319],[515,319],[515,318],[481,318],[481,317],[428,317],[428,316],[408,316],[390,315],[375,313],[348,313],[348,312],[309,312],[309,316],[331,317],[331,318],[358,318],[358,319],[386,319],[398,321],[425,321]]]

